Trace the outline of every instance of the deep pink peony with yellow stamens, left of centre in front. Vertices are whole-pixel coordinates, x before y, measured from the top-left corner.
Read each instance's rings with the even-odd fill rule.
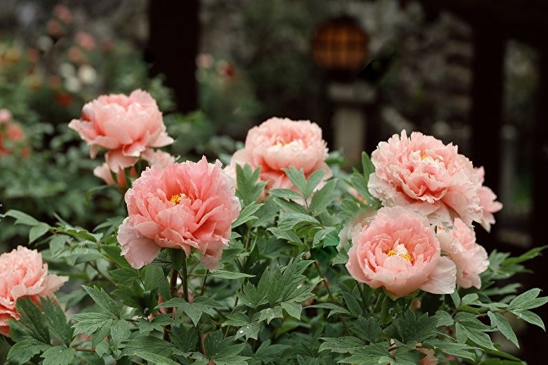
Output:
[[[186,161],[147,168],[125,193],[129,216],[119,228],[122,254],[134,268],[152,262],[160,248],[192,248],[214,270],[240,212],[235,182],[221,162]]]

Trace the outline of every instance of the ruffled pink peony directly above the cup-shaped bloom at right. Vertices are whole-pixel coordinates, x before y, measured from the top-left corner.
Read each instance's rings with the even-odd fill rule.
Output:
[[[385,206],[409,206],[432,224],[452,226],[455,217],[481,221],[481,184],[471,161],[432,136],[413,132],[380,142],[371,159],[369,191]]]

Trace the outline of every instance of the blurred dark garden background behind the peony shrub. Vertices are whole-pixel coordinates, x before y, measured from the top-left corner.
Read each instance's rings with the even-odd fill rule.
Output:
[[[226,161],[273,116],[319,124],[342,168],[404,128],[453,142],[504,204],[478,242],[518,255],[547,243],[547,16],[542,0],[1,0],[0,212],[123,215],[67,124],[143,88],[184,158]],[[0,252],[26,242],[18,229],[0,224]],[[543,261],[524,289],[548,288]],[[520,343],[545,363],[542,330]]]

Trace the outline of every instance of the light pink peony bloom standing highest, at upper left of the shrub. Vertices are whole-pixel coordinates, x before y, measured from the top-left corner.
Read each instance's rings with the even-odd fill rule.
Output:
[[[73,119],[69,127],[91,146],[91,157],[98,148],[108,150],[105,159],[114,172],[133,166],[149,148],[173,143],[156,101],[143,90],[129,97],[103,95],[85,104],[80,119]]]

